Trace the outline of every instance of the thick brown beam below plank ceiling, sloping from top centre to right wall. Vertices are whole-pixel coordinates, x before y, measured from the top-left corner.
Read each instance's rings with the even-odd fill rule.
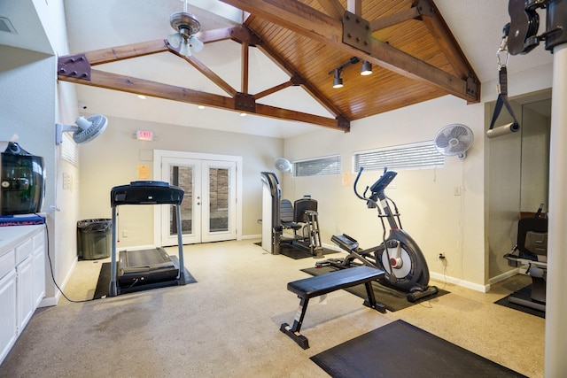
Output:
[[[318,42],[330,45],[347,54],[357,56],[377,66],[382,66],[394,73],[421,81],[445,90],[470,102],[478,102],[479,91],[470,93],[467,80],[454,76],[435,66],[431,66],[393,48],[388,43],[376,38],[370,40],[370,52],[353,48],[342,42],[343,26],[341,21],[333,19],[310,6],[296,0],[221,0],[245,12],[250,12],[263,19],[285,27],[295,33],[305,35]]]

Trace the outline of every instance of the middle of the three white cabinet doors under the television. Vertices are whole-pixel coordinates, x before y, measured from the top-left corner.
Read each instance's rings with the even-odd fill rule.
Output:
[[[35,310],[33,258],[28,256],[16,266],[18,297],[18,334],[26,327]]]

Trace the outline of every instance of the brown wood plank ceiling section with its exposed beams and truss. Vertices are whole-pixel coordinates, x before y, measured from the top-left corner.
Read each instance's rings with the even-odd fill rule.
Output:
[[[221,0],[245,11],[241,27],[201,31],[205,43],[242,45],[242,84],[232,88],[198,58],[183,57],[167,41],[136,43],[60,57],[58,79],[157,96],[229,111],[251,112],[349,131],[351,121],[447,94],[477,103],[480,83],[432,0]],[[290,75],[290,81],[249,93],[248,49],[257,47]],[[118,60],[170,51],[198,69],[228,96],[99,71]],[[355,60],[359,62],[348,65]],[[373,73],[362,76],[361,62]],[[344,87],[332,88],[334,69],[347,64]],[[331,73],[333,72],[333,73]],[[331,73],[331,74],[330,74]],[[330,112],[322,117],[260,104],[258,100],[301,86]]]

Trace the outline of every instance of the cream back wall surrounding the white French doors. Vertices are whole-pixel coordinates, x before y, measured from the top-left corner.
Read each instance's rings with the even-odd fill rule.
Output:
[[[151,130],[154,142],[132,138],[136,130]],[[203,128],[181,127],[138,120],[109,118],[103,134],[80,145],[80,219],[111,218],[110,191],[114,186],[143,180],[137,166],[153,169],[152,150],[179,150],[241,156],[243,158],[242,235],[260,235],[261,171],[273,170],[275,158],[283,154],[283,140],[264,136],[226,133]],[[144,179],[148,180],[148,179]],[[151,177],[150,180],[159,180]],[[153,206],[120,206],[120,247],[153,245]]]

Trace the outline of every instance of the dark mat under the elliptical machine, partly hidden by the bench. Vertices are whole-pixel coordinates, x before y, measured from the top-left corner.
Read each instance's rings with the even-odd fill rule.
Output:
[[[337,268],[334,268],[332,266],[322,266],[322,267],[309,267],[307,269],[301,269],[301,272],[305,272],[311,275],[321,275],[332,272],[334,270],[337,270]],[[384,305],[386,310],[391,312],[400,311],[412,305],[416,305],[418,303],[428,301],[432,298],[441,297],[449,293],[446,290],[438,289],[439,291],[437,294],[434,294],[429,297],[423,297],[419,300],[416,300],[416,302],[411,303],[408,301],[408,298],[406,297],[407,293],[404,291],[392,289],[376,281],[372,282],[372,288],[374,289],[374,295],[376,296],[377,302]],[[361,297],[361,298],[367,297],[366,288],[364,287],[364,285],[353,286],[345,290],[348,291],[349,293],[354,294],[357,297]]]

